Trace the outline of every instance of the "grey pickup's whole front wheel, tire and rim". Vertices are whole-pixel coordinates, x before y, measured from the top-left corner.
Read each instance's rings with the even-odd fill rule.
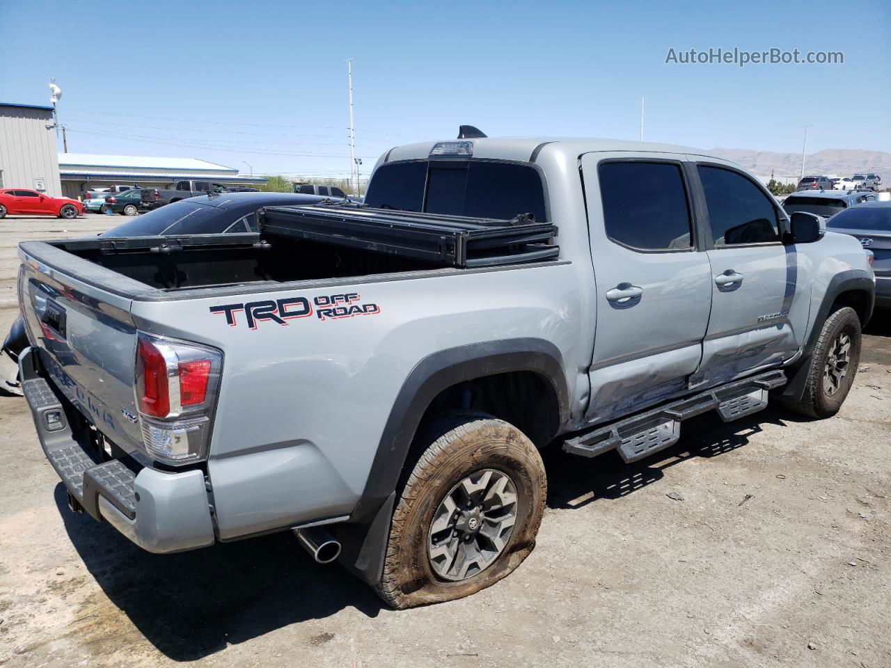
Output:
[[[835,415],[854,385],[861,342],[860,318],[853,308],[844,306],[830,314],[813,347],[804,394],[786,406],[811,418]]]

